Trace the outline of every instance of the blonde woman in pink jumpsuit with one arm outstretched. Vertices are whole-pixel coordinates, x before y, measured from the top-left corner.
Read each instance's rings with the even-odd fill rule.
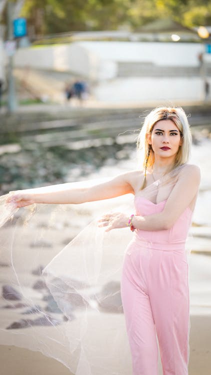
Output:
[[[121,298],[133,375],[157,374],[159,342],[163,374],[188,373],[189,292],[185,239],[200,182],[187,164],[191,144],[180,107],[157,107],[138,137],[143,169],[117,175],[91,187],[48,187],[12,192],[15,207],[32,203],[82,203],[134,194],[135,214],[112,212],[98,220],[105,231],[134,232],[122,269]],[[156,330],[156,333],[155,333]]]

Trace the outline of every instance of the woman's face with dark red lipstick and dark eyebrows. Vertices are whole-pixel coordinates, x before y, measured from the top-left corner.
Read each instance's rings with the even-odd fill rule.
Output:
[[[175,123],[166,119],[159,120],[154,124],[148,142],[151,144],[155,156],[172,158],[176,156],[182,140]]]

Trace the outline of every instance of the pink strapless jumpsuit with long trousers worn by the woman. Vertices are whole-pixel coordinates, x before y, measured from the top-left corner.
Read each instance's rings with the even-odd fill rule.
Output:
[[[136,214],[162,211],[136,196]],[[184,250],[192,211],[186,208],[170,229],[136,229],[124,257],[121,298],[133,375],[187,375],[189,360],[188,262]],[[156,331],[156,333],[155,333]]]

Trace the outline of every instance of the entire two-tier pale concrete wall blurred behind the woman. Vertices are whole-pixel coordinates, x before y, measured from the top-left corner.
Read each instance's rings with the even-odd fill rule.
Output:
[[[21,48],[15,54],[15,65],[85,76],[95,82],[95,98],[111,103],[199,101],[204,97],[198,59],[203,51],[200,43],[83,41]],[[205,58],[210,64],[210,56]],[[126,71],[123,76],[120,64]],[[142,66],[141,74],[138,69],[134,73],[133,64]]]

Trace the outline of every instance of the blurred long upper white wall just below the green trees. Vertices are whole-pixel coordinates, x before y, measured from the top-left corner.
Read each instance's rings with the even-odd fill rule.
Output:
[[[198,66],[199,43],[83,41],[71,44],[20,48],[15,65],[74,71],[91,79],[116,75],[116,63],[152,62],[160,66]]]

